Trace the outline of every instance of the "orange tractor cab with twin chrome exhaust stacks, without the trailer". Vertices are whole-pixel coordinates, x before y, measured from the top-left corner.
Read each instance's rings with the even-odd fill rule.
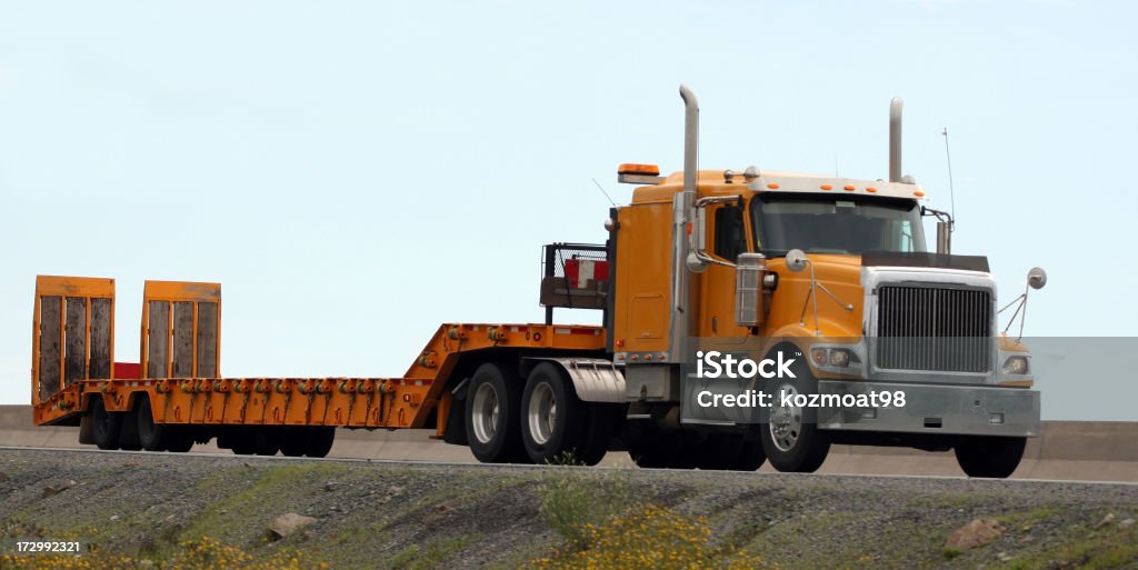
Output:
[[[621,165],[618,179],[637,188],[607,223],[610,349],[624,367],[634,459],[679,466],[727,445],[783,471],[814,471],[832,443],[902,445],[955,449],[968,474],[1011,474],[1025,438],[1039,435],[1030,354],[997,333],[987,258],[951,255],[951,222],[900,175],[899,100],[887,181],[700,171],[698,106],[690,90],[682,96],[684,171]],[[924,215],[942,220],[933,253]],[[707,380],[693,364],[712,349],[735,360],[782,353],[793,375]],[[768,403],[702,406],[707,390],[762,393]],[[787,393],[802,397],[780,398]]]

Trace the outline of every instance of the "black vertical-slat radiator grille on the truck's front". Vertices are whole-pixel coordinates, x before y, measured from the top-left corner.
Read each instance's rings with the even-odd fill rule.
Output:
[[[989,291],[885,286],[877,295],[877,367],[988,372]]]

